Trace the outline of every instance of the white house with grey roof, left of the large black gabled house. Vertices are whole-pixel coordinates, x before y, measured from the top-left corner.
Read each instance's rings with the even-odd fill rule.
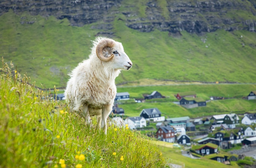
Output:
[[[147,126],[147,122],[144,117],[128,117],[124,122],[129,125],[131,130]]]

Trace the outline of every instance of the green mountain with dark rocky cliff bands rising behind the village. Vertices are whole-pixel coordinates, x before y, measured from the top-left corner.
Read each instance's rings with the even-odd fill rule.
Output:
[[[91,40],[123,43],[143,79],[255,82],[255,0],[1,1],[0,50],[31,82],[65,87]]]

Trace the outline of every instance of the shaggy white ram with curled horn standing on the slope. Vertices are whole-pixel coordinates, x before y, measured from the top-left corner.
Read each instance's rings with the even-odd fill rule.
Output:
[[[98,127],[107,134],[107,118],[116,97],[115,79],[121,70],[129,70],[132,62],[122,43],[98,37],[93,41],[91,54],[69,73],[65,98],[72,110],[80,111],[87,125],[97,116]]]

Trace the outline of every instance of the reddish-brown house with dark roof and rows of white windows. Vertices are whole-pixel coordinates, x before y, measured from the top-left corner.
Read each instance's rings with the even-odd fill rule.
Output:
[[[174,142],[175,141],[175,130],[173,127],[170,126],[163,126],[160,127],[157,130],[157,138],[161,141],[165,141],[165,142]]]

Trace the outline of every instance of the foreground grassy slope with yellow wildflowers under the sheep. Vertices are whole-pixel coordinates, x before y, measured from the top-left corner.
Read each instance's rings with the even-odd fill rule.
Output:
[[[108,125],[105,135],[95,128],[95,120],[90,129],[65,103],[42,100],[46,92],[34,92],[27,81],[29,78],[3,64],[0,167],[61,167],[60,159],[71,168],[77,164],[83,168],[165,167],[161,152],[148,138],[124,127],[115,131],[115,125]],[[84,159],[76,159],[81,154]]]

